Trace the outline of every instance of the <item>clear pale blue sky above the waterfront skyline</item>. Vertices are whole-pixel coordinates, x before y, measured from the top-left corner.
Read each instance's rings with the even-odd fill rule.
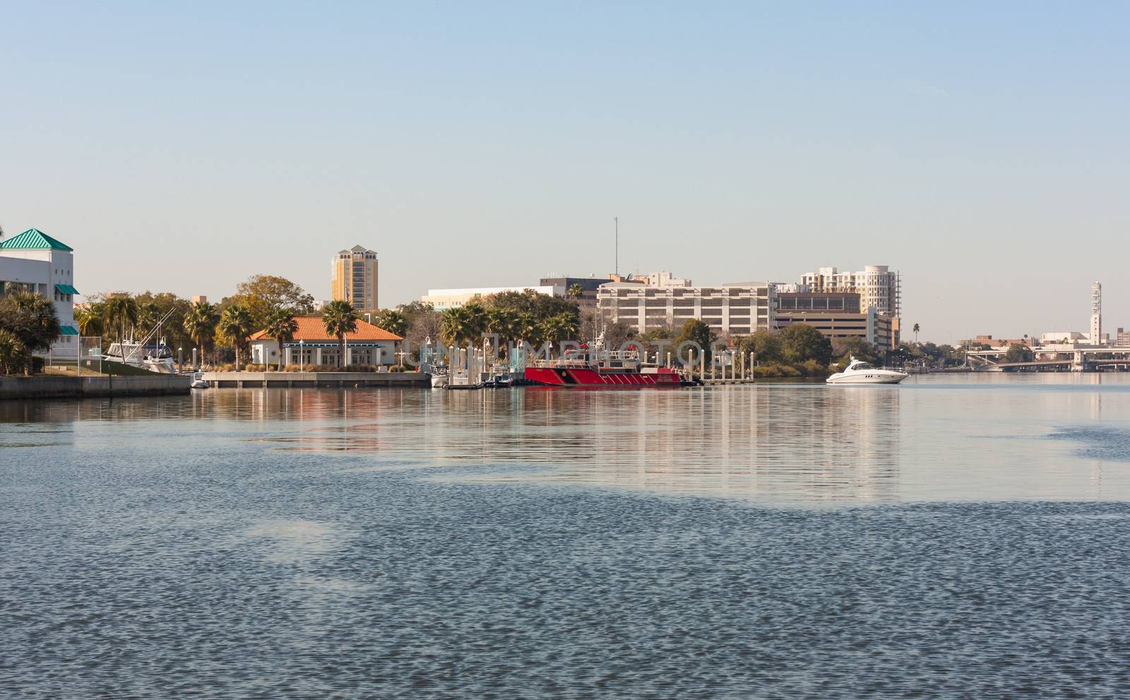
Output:
[[[0,226],[85,293],[902,273],[953,343],[1130,327],[1130,5],[0,0]],[[165,7],[160,7],[165,6]],[[904,334],[904,337],[909,334]]]

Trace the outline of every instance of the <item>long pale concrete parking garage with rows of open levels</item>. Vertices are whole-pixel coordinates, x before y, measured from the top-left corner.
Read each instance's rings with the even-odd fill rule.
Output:
[[[714,287],[657,287],[609,283],[597,291],[597,308],[608,322],[623,322],[637,332],[678,329],[699,319],[722,338],[745,336],[773,327],[776,304],[773,285],[742,282]]]

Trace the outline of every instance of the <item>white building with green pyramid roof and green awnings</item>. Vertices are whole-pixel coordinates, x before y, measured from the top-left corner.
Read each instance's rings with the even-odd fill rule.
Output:
[[[55,302],[63,332],[52,355],[78,353],[75,325],[75,251],[37,228],[0,240],[0,296],[18,289],[38,292]]]

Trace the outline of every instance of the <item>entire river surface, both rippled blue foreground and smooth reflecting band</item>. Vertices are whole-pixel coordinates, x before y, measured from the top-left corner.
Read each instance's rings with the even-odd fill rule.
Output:
[[[1130,378],[0,404],[0,697],[1130,695]]]

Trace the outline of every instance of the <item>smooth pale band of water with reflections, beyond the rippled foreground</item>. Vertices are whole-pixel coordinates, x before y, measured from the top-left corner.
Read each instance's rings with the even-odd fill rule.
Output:
[[[225,389],[0,404],[0,449],[183,440],[223,459],[237,441],[288,465],[339,453],[342,472],[449,481],[805,502],[1123,499],[1127,470],[1107,466],[1115,433],[1075,429],[1121,421],[1128,389],[1123,377],[999,374],[901,387]],[[43,430],[62,432],[29,434]],[[1095,440],[1115,443],[1080,448]]]

